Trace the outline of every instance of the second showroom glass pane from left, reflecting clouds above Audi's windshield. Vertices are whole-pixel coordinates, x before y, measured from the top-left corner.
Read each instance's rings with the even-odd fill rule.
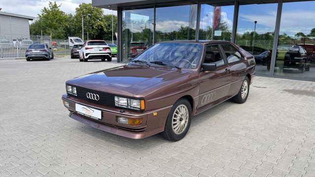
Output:
[[[196,37],[197,4],[156,8],[157,42]]]

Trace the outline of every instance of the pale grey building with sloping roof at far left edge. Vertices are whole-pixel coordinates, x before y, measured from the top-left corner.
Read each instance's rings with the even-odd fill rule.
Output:
[[[0,11],[0,39],[16,41],[30,39],[29,21],[34,17]],[[6,39],[6,40],[5,40]]]

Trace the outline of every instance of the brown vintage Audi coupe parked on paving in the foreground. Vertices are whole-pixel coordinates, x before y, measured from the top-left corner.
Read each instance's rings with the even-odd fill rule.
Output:
[[[249,95],[255,60],[227,41],[169,41],[124,66],[71,79],[62,96],[69,117],[133,139],[185,137],[191,118]]]

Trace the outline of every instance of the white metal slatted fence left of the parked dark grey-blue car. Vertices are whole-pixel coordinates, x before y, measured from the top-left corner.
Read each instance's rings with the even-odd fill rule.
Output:
[[[1,44],[0,58],[19,59],[25,58],[25,51],[30,44]]]

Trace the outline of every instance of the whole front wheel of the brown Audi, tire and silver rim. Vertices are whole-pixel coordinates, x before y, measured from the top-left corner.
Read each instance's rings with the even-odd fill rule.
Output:
[[[184,111],[184,113],[186,113],[186,116],[182,115],[184,116],[184,118],[182,118],[181,116],[181,118],[177,119],[178,123],[176,124],[176,122],[173,122],[173,120],[176,120],[176,118],[174,117],[178,117],[176,116],[176,114],[181,114],[180,110],[183,110],[183,109],[186,110]],[[181,98],[175,102],[170,113],[167,116],[164,131],[161,133],[162,137],[170,141],[179,141],[183,139],[189,130],[190,122],[191,122],[191,105],[187,99]],[[176,128],[177,128],[177,132],[176,130],[174,130]]]

